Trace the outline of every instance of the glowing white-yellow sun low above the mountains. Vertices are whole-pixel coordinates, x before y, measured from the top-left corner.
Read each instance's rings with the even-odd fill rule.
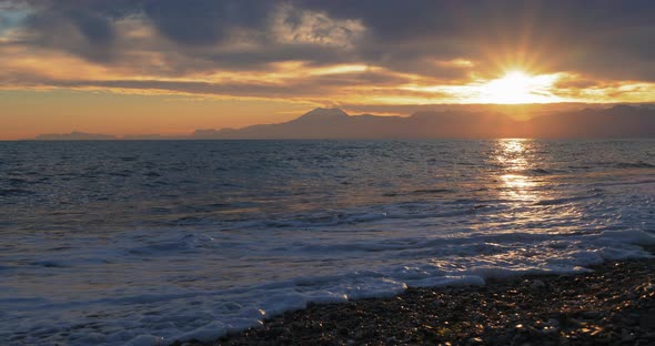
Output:
[[[521,70],[507,71],[503,77],[481,85],[480,99],[484,103],[545,103],[557,102],[552,94],[553,75],[530,75]]]

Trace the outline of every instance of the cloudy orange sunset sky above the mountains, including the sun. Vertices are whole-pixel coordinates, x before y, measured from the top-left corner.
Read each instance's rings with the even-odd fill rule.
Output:
[[[655,101],[652,0],[0,0],[0,139]]]

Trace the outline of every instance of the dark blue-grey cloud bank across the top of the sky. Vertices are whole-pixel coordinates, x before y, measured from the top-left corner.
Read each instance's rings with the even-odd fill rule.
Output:
[[[534,64],[550,72],[655,80],[655,1],[651,0],[14,2],[32,7],[24,24],[36,33],[36,44],[92,61],[110,61],[121,57],[117,52],[140,49],[129,42],[115,44],[117,20],[132,17],[150,22],[161,38],[175,44],[175,54],[225,69],[250,69],[285,60],[316,64],[356,61],[402,72],[462,78],[465,70],[435,68],[433,62],[462,58],[475,61],[480,70],[490,70],[503,60],[522,62],[523,55],[530,55]],[[273,19],[281,6],[295,9],[283,22],[291,29],[301,26],[301,11],[309,10],[334,20],[361,22],[364,32],[353,39],[350,50],[318,41],[280,42],[273,32]],[[314,32],[318,38],[331,34],[319,29]],[[224,49],[244,38],[251,45],[248,50]],[[149,49],[167,53],[169,47]]]

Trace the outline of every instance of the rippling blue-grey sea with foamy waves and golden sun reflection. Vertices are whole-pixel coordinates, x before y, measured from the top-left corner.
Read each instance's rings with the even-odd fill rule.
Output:
[[[211,340],[655,245],[655,140],[0,142],[0,344]]]

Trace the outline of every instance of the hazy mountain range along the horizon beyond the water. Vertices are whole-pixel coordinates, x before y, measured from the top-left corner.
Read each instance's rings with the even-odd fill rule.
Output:
[[[599,139],[655,138],[655,110],[614,105],[582,109],[528,120],[500,112],[421,111],[410,116],[349,115],[340,109],[315,109],[294,120],[242,129],[195,130],[185,136],[143,135],[125,140],[263,140],[263,139]],[[36,140],[112,140],[112,135],[39,135]]]

